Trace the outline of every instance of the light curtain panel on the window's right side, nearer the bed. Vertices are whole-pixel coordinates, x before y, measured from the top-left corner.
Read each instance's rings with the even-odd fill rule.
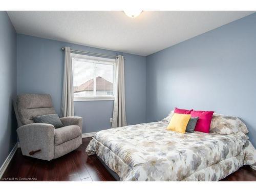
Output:
[[[124,59],[116,57],[115,101],[113,108],[112,128],[126,125],[124,93]]]

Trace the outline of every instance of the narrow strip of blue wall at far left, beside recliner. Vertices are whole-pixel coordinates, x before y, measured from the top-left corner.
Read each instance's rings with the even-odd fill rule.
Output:
[[[7,13],[0,11],[0,167],[17,142],[12,109],[17,89],[16,75],[16,31]]]

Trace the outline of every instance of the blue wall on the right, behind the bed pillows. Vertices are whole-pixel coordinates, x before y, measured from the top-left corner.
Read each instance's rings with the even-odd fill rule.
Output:
[[[256,14],[146,57],[146,116],[178,106],[240,117],[256,146]]]

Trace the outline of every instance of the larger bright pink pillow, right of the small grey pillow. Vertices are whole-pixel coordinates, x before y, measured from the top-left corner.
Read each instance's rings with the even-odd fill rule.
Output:
[[[198,117],[195,131],[209,133],[214,111],[192,111],[191,117]]]

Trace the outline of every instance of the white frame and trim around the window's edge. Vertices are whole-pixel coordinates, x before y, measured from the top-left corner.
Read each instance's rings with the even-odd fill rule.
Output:
[[[108,61],[110,63],[105,64],[105,65],[113,65],[113,96],[97,95],[97,96],[77,97],[77,98],[75,98],[74,88],[73,88],[73,99],[74,99],[74,101],[113,101],[113,100],[115,100],[116,60],[111,59],[111,58],[105,58],[105,57],[95,57],[95,56],[90,56],[90,55],[82,55],[82,54],[71,53],[72,71],[74,71],[72,57],[81,58],[81,59],[88,59],[88,60],[90,60],[90,62],[92,60],[98,61],[99,63]],[[74,79],[74,77],[73,77],[73,79]]]

